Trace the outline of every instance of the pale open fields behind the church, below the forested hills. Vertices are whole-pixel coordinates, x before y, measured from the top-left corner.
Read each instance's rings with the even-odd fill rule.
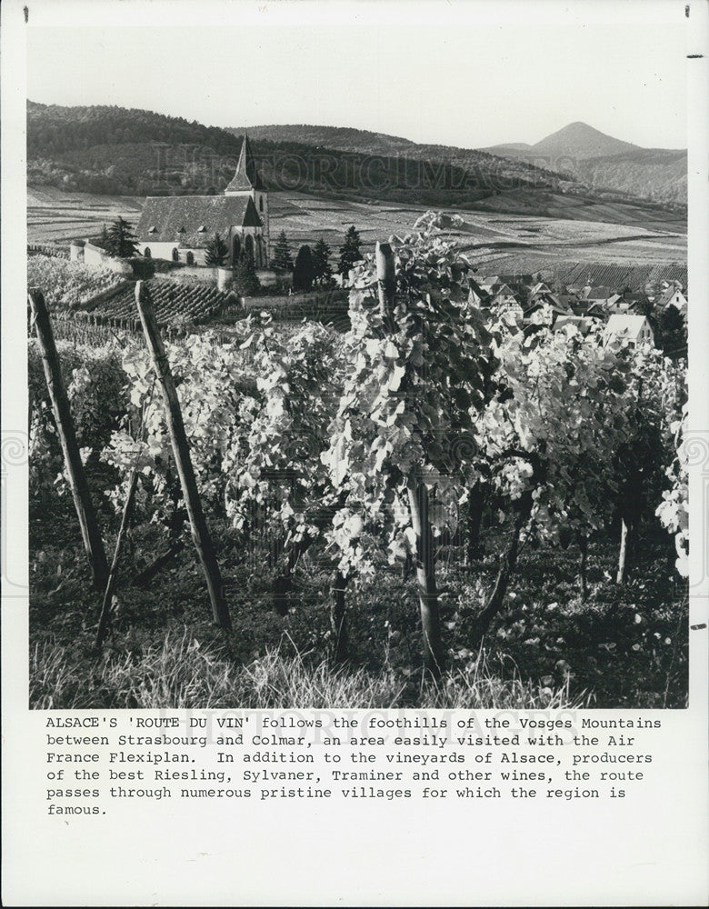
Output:
[[[77,236],[98,233],[119,214],[135,224],[142,204],[142,199],[127,196],[64,193],[53,187],[30,189],[28,240],[66,245]],[[564,199],[564,205],[569,204]],[[617,212],[606,210],[607,205],[606,209],[596,207],[597,220],[571,220],[564,217],[563,207],[558,218],[456,210],[464,226],[448,235],[462,244],[481,272],[552,274],[558,264],[583,263],[594,283],[600,283],[596,275],[606,265],[642,269],[643,275],[664,267],[667,276],[686,277],[686,226],[681,220],[668,214],[664,220],[648,223],[638,212],[637,222],[614,224],[604,221],[603,215],[611,217]],[[294,248],[323,237],[335,253],[350,225],[360,231],[364,251],[371,252],[376,240],[411,231],[425,209],[275,193],[270,196],[269,211],[272,243],[285,230]],[[568,208],[565,213],[568,215]]]

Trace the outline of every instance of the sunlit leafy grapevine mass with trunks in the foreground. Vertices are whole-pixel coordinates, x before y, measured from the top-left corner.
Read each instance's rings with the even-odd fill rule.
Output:
[[[622,581],[641,516],[655,521],[659,507],[668,530],[684,532],[684,366],[650,347],[608,345],[600,330],[554,331],[544,314],[524,330],[497,321],[470,303],[468,265],[440,239],[408,238],[395,270],[386,252],[376,270],[354,267],[345,336],[308,324],[285,337],[258,316],[237,326],[240,347],[216,356],[203,336],[168,353],[200,493],[245,546],[255,514],[281,539],[277,595],[299,556],[319,547],[343,655],[347,584],[413,564],[424,660],[437,674],[438,541],[463,524],[473,536],[481,502],[494,503],[506,543],[474,643],[500,613],[524,540],[572,539],[585,552],[621,519]],[[243,348],[255,383],[235,383]],[[122,366],[147,432],[136,439],[126,418],[100,456],[123,477],[119,506],[137,453],[139,507],[169,525],[179,494],[145,348],[127,348]],[[583,557],[581,569],[585,584]]]

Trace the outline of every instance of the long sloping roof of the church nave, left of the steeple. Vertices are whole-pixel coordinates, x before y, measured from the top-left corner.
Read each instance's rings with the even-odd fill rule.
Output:
[[[141,243],[204,249],[216,232],[224,237],[234,226],[263,226],[251,196],[148,196],[135,234]]]

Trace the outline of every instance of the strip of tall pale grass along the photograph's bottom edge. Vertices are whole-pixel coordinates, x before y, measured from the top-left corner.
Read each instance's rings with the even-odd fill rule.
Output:
[[[549,710],[581,707],[587,698],[569,694],[568,683],[554,688],[523,682],[516,673],[503,679],[487,654],[474,664],[444,675],[439,684],[423,674],[384,666],[370,672],[313,654],[288,655],[280,649],[245,665],[235,664],[224,647],[200,644],[185,628],[143,654],[112,652],[89,666],[67,659],[56,642],[35,644],[31,654],[30,700],[52,708],[234,708],[355,709],[417,706],[431,709]],[[89,687],[86,690],[86,675]]]

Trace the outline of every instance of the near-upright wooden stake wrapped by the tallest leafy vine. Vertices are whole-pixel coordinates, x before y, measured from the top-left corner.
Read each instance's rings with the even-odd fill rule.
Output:
[[[391,303],[396,287],[394,252],[388,243],[377,243],[375,251],[379,311],[387,324],[391,323]],[[424,633],[424,666],[437,678],[444,664],[441,642],[441,618],[438,591],[435,584],[434,541],[428,514],[428,490],[416,475],[414,467],[407,480],[411,524],[416,544],[416,584]]]

